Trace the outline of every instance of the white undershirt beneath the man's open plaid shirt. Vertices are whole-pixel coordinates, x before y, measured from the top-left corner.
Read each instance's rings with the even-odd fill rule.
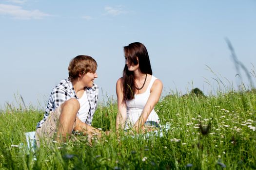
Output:
[[[84,91],[82,97],[78,99],[80,103],[80,109],[78,111],[78,118],[85,123],[86,119],[88,118],[89,110],[90,110],[90,104],[88,101],[86,90]]]

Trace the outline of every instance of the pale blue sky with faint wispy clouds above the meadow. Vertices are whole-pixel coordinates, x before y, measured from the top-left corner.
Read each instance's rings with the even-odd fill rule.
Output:
[[[195,87],[215,91],[216,77],[236,88],[225,38],[251,71],[255,30],[256,0],[0,0],[0,106],[15,103],[19,94],[26,104],[44,107],[52,88],[68,77],[69,61],[80,54],[98,62],[100,100],[116,99],[123,46],[132,42],[146,46],[163,96]]]

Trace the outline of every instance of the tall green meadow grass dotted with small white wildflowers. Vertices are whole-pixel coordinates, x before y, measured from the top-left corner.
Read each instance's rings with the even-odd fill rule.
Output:
[[[113,133],[90,147],[85,136],[77,136],[28,154],[20,143],[25,132],[35,131],[43,111],[7,107],[0,113],[0,169],[256,169],[255,91],[173,94],[155,110],[161,125],[170,125],[162,137]],[[108,99],[92,125],[115,132],[116,113],[116,102]]]

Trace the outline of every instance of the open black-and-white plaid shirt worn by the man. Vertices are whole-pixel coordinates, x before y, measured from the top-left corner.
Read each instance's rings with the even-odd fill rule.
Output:
[[[97,108],[97,101],[98,101],[98,85],[93,85],[91,88],[86,87],[86,93],[88,97],[88,102],[90,105],[88,118],[86,119],[85,123],[91,125],[93,120],[93,115]],[[48,115],[51,111],[54,111],[56,108],[59,107],[60,104],[63,102],[71,99],[76,98],[76,91],[69,80],[62,80],[60,81],[59,85],[53,88],[50,98],[48,100],[44,117],[41,121],[38,122],[37,128],[40,128],[45,120],[48,118]]]

